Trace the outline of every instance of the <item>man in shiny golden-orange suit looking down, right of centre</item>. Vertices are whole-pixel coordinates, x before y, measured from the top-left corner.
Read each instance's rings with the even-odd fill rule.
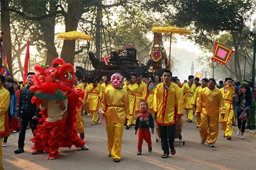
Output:
[[[201,90],[199,100],[196,103],[196,115],[201,117],[199,127],[201,144],[207,141],[209,147],[215,147],[214,143],[219,133],[219,115],[224,118],[226,113],[223,96],[215,86],[215,79],[210,78],[208,87]]]

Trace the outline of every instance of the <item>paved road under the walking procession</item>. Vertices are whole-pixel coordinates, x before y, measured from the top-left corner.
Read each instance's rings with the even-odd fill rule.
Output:
[[[175,156],[163,159],[161,143],[156,142],[155,134],[152,135],[152,152],[147,152],[144,141],[142,155],[137,156],[137,136],[133,128],[124,129],[121,162],[115,163],[107,156],[105,127],[102,124],[91,126],[91,118],[86,115],[83,119],[88,151],[75,147],[60,148],[60,158],[55,160],[47,160],[47,153],[32,155],[33,143],[29,141],[32,133],[28,129],[24,153],[13,153],[17,149],[18,133],[9,137],[8,146],[3,148],[4,169],[256,169],[255,130],[247,130],[245,140],[242,140],[234,127],[232,141],[219,131],[215,148],[210,148],[207,144],[200,144],[195,122],[184,122],[182,136],[185,145],[175,139]]]

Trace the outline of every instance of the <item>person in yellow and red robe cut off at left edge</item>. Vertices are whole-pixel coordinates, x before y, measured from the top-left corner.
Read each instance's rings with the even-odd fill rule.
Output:
[[[6,78],[0,74],[0,143],[2,144],[3,138],[9,136],[9,119],[8,108],[10,105],[10,93],[3,87]],[[2,163],[3,153],[2,146],[0,146],[0,169],[3,169]]]

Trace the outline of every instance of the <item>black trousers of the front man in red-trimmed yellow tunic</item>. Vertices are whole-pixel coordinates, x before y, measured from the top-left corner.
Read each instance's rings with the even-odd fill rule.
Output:
[[[159,132],[160,132],[160,138],[161,138],[161,145],[162,150],[166,154],[170,154],[170,149],[174,149],[174,138],[175,138],[175,124],[171,124],[169,126],[161,126],[158,125]],[[169,144],[169,146],[168,146]]]

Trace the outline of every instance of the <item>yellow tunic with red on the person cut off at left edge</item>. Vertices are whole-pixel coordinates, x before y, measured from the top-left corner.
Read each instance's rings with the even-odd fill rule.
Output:
[[[0,88],[0,138],[9,136],[8,108],[10,93],[6,88]]]

